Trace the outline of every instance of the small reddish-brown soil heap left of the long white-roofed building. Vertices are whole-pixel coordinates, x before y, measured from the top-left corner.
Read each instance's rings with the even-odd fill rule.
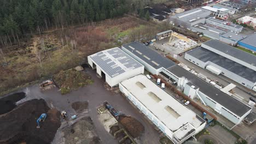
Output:
[[[119,121],[134,138],[138,137],[144,131],[142,123],[131,116],[120,116]]]

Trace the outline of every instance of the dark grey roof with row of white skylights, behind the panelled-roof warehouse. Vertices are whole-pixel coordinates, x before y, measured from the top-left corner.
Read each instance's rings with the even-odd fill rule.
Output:
[[[133,41],[130,44],[125,44],[122,46],[136,55],[138,58],[142,59],[144,62],[148,63],[155,69],[159,68],[170,68],[176,63],[172,62],[170,59],[160,55],[158,52],[150,49],[148,46],[139,43],[138,41]]]

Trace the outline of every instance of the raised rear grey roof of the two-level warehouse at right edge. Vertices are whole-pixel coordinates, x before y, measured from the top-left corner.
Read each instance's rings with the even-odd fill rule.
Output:
[[[203,44],[210,46],[213,49],[216,49],[218,51],[224,52],[226,53],[226,55],[230,55],[232,57],[240,59],[241,61],[246,62],[248,64],[256,64],[256,56],[251,55],[250,53],[241,51],[239,49],[236,49],[235,47],[232,47],[228,44],[224,44],[218,40],[212,39],[212,40],[206,41]]]

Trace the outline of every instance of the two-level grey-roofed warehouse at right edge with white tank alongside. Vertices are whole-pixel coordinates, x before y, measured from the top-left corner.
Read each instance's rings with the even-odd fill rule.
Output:
[[[185,53],[185,59],[256,91],[256,56],[218,40],[209,40]]]

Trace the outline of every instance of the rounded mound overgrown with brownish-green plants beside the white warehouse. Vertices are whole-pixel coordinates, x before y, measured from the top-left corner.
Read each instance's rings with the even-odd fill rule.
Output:
[[[60,71],[53,76],[56,85],[61,89],[61,94],[66,94],[79,87],[92,83],[91,76],[84,71],[77,71],[74,68]]]

